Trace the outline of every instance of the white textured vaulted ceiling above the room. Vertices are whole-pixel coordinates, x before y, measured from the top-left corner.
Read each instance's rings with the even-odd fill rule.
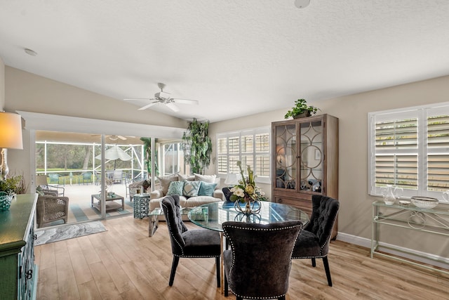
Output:
[[[163,82],[199,105],[151,109],[217,122],[448,75],[448,17],[447,0],[0,0],[0,57],[116,100]]]

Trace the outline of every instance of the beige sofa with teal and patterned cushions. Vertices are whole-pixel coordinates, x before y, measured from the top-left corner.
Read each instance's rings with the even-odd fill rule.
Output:
[[[170,195],[170,192],[173,193],[173,188],[170,188],[170,183],[173,181],[177,181],[177,185],[182,185],[182,183],[189,184],[192,183],[192,181],[196,182],[195,185],[199,184],[199,191],[198,193],[193,193],[194,196],[189,196],[185,193],[187,188],[183,190],[182,195],[176,194],[180,195],[181,207],[197,207],[201,204],[223,201],[225,199],[220,188],[220,178],[217,178],[215,175],[194,174],[192,176],[185,176],[182,174],[175,174],[172,176],[158,177],[158,180],[161,188],[150,193],[149,211],[161,207],[160,202],[162,198],[166,195]],[[203,193],[201,193],[201,185],[207,186],[207,188],[203,189]]]

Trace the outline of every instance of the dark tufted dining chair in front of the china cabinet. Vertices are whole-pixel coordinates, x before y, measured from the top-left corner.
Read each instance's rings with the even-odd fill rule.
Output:
[[[292,259],[311,259],[311,265],[314,267],[315,259],[323,259],[328,285],[332,287],[328,252],[330,235],[337,219],[340,203],[338,200],[322,195],[312,195],[311,202],[311,217],[297,237]]]

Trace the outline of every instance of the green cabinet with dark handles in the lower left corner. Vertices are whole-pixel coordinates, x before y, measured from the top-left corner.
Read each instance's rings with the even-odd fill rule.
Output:
[[[34,264],[36,194],[18,195],[0,211],[0,299],[35,299]]]

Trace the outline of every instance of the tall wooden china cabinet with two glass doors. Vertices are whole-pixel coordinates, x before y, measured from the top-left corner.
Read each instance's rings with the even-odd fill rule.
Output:
[[[338,199],[338,119],[316,115],[272,123],[272,199],[311,214],[311,195]],[[337,235],[337,222],[332,238]]]

